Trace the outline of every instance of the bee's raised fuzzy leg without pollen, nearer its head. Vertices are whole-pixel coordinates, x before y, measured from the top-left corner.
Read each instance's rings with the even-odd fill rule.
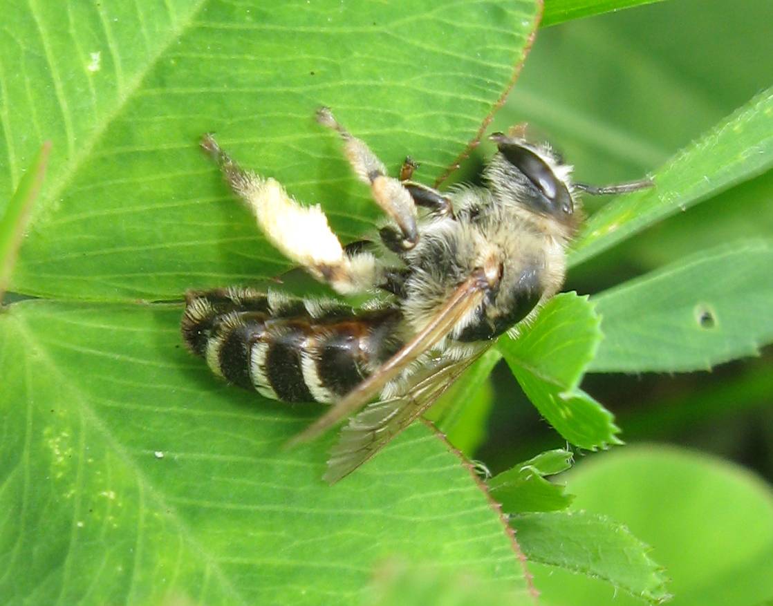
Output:
[[[398,179],[386,175],[383,162],[370,150],[365,141],[353,137],[333,117],[328,107],[317,111],[317,121],[332,128],[344,141],[344,152],[352,169],[359,179],[370,186],[373,199],[390,218],[400,227],[404,250],[410,250],[419,239],[416,228],[416,206],[410,193]]]

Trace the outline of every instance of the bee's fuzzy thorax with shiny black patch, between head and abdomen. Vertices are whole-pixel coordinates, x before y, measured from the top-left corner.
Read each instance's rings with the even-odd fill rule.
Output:
[[[455,218],[434,218],[421,226],[421,240],[406,254],[404,313],[415,330],[478,267],[493,265],[499,271],[498,287],[461,318],[449,335],[452,341],[495,339],[560,288],[564,234],[546,229],[539,216],[495,208],[497,213],[486,214],[463,206]]]

